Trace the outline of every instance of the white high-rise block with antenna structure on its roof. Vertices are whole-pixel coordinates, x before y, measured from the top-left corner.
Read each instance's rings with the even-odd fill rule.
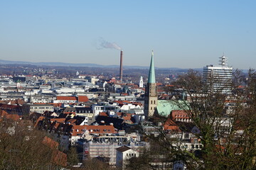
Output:
[[[221,94],[231,93],[233,67],[226,64],[227,58],[220,57],[218,66],[208,65],[203,67],[203,80],[206,82],[207,91]]]

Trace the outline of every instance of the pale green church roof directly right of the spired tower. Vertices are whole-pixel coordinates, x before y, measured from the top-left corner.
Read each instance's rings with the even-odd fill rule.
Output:
[[[156,109],[159,115],[167,118],[171,111],[188,110],[188,103],[184,103],[184,101],[159,100],[157,101]]]

